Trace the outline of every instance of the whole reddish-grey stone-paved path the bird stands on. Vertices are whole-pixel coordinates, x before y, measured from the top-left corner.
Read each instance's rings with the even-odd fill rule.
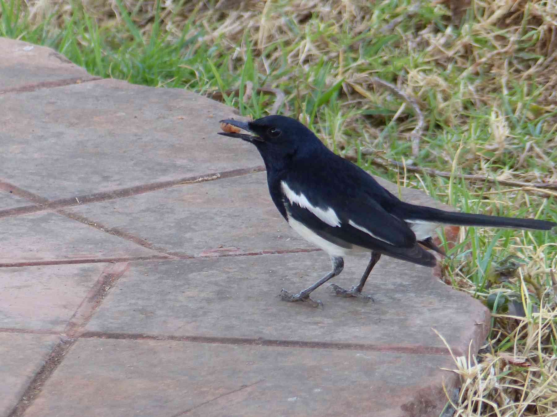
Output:
[[[93,79],[0,38],[0,416],[438,415],[458,379],[432,327],[474,353],[485,307],[385,257],[373,303],[278,300],[329,260],[276,212],[255,148],[216,135],[234,110]]]

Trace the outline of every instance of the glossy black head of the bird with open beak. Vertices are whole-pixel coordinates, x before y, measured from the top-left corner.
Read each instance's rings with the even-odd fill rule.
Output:
[[[219,135],[236,137],[253,143],[264,160],[293,156],[300,150],[324,146],[311,130],[296,119],[286,116],[266,116],[251,122],[227,119],[221,120],[221,123],[253,133],[253,135],[246,135],[237,132],[218,132]]]

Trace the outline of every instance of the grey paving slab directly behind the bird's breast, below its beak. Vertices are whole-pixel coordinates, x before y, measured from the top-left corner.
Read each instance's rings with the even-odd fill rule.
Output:
[[[380,182],[398,192],[395,184]],[[418,190],[403,188],[402,197],[449,209]],[[166,253],[212,256],[314,247],[276,210],[265,172],[80,205],[67,212],[138,236]]]

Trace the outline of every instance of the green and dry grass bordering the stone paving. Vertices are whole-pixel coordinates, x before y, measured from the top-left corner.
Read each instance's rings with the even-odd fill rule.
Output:
[[[374,175],[463,211],[557,221],[557,7],[459,4],[0,0],[0,36],[101,77],[297,117]],[[455,358],[455,415],[554,415],[555,235],[449,231],[442,279],[493,312],[480,354]]]

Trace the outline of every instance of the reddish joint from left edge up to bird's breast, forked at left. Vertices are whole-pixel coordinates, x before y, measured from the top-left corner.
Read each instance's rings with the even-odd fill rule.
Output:
[[[64,209],[67,207],[75,207],[75,206],[88,204],[88,203],[116,200],[118,198],[131,197],[139,194],[144,194],[147,192],[163,190],[164,188],[215,181],[221,178],[240,177],[243,175],[249,175],[251,173],[257,173],[263,171],[265,171],[265,167],[259,165],[252,168],[240,168],[231,171],[212,172],[203,175],[183,177],[183,178],[178,178],[177,180],[151,182],[151,183],[133,186],[133,187],[118,188],[117,190],[114,191],[100,191],[100,192],[95,192],[92,194],[86,194],[81,196],[59,198],[57,200],[48,200],[47,198],[38,196],[35,193],[24,190],[23,188],[13,185],[12,183],[0,180],[0,190],[11,192],[13,193],[13,195],[25,198],[26,200],[35,203],[35,206],[21,206],[21,207],[14,207],[13,209],[0,210],[0,218],[30,214],[30,213],[46,211],[46,210]]]

